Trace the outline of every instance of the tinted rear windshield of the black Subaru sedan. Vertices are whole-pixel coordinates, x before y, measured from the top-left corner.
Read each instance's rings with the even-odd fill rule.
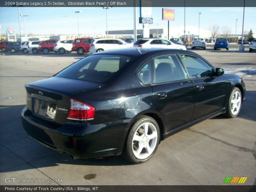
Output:
[[[122,55],[91,55],[60,71],[56,77],[104,83],[131,60]]]

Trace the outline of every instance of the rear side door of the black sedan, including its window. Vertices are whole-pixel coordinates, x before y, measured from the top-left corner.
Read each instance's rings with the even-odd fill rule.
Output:
[[[155,79],[152,84],[154,106],[166,121],[167,132],[188,123],[194,111],[194,85],[176,54],[153,58]]]

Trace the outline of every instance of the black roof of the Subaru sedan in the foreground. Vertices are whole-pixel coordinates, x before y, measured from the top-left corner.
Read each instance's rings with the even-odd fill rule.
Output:
[[[161,53],[189,53],[194,54],[194,52],[191,51],[185,51],[180,49],[165,49],[165,48],[137,48],[137,47],[131,47],[126,49],[116,49],[116,50],[106,50],[104,52],[96,52],[91,55],[96,54],[115,54],[115,55],[126,55],[131,57],[139,57],[140,55],[147,54],[147,53],[155,53],[155,54],[161,54]]]

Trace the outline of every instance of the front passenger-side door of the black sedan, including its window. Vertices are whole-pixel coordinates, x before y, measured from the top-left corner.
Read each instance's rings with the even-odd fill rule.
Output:
[[[193,119],[225,107],[226,82],[215,76],[213,68],[204,60],[189,54],[179,54],[190,81],[194,84],[195,111]]]

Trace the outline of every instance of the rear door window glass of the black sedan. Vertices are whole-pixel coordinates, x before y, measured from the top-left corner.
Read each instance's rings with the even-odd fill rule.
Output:
[[[154,58],[155,83],[187,79],[186,72],[175,54]]]

